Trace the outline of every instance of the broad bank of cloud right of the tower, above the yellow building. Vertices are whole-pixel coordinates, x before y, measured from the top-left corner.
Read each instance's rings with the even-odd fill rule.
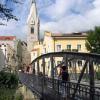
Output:
[[[41,30],[52,32],[89,30],[100,25],[100,0],[56,0],[56,3],[47,7],[44,13],[52,20],[41,21]]]

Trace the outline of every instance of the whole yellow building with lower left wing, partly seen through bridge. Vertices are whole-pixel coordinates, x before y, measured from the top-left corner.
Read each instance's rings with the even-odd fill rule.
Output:
[[[74,51],[74,52],[87,52],[85,47],[87,35],[86,33],[70,33],[70,34],[56,34],[45,31],[43,41],[39,43],[34,43],[34,48],[31,51],[32,60],[38,56],[50,53],[50,52],[60,52],[60,51]],[[63,58],[56,57],[55,64],[58,65]],[[82,61],[78,62],[82,66]],[[78,63],[76,66],[78,66]],[[40,61],[42,64],[42,61]],[[46,66],[50,66],[49,59],[46,59]],[[46,67],[47,74],[51,73],[51,68]],[[40,69],[42,71],[42,69]],[[71,69],[72,70],[72,69]],[[77,69],[78,70],[78,69]],[[79,72],[79,71],[78,71]]]

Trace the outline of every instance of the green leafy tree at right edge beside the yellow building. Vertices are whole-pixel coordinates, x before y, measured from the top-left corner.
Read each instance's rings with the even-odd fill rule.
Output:
[[[88,31],[86,48],[91,53],[100,53],[100,27]]]

